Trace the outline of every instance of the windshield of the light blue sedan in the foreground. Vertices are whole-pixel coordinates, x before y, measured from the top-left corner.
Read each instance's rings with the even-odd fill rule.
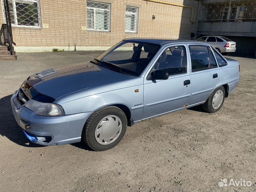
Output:
[[[157,44],[121,41],[98,56],[95,63],[119,73],[139,76],[159,48]]]

